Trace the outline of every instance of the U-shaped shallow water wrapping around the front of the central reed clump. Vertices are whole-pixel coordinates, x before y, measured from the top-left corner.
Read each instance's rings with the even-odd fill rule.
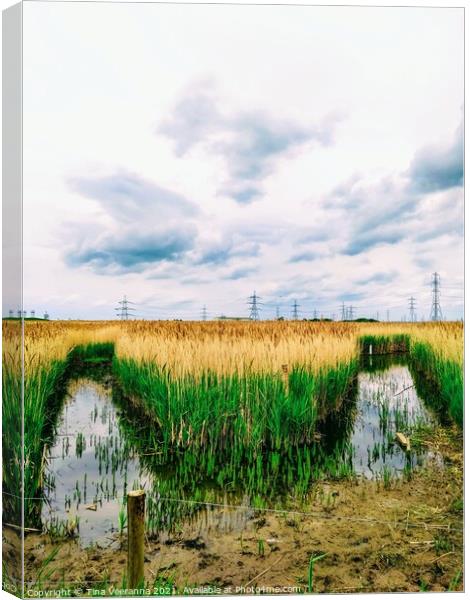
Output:
[[[69,384],[49,449],[42,520],[59,531],[78,527],[84,545],[119,543],[127,490],[145,487],[150,536],[164,539],[188,520],[206,535],[241,531],[253,507],[299,506],[321,478],[371,478],[420,463],[425,457],[404,452],[395,433],[431,418],[403,360],[367,359],[350,397],[324,414],[310,445],[256,455],[164,451],[158,429],[118,389],[80,378]]]

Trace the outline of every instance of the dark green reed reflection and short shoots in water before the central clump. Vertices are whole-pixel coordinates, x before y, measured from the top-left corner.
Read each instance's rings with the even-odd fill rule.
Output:
[[[351,478],[353,450],[341,438],[331,452],[322,442],[290,446],[283,451],[264,449],[256,456],[248,448],[165,448],[158,428],[142,408],[129,405],[118,389],[113,402],[120,408],[119,427],[128,453],[139,455],[141,467],[151,473],[147,490],[147,531],[177,531],[178,525],[211,503],[253,508],[286,507],[308,499],[319,479]],[[351,410],[351,408],[350,408]],[[344,435],[347,435],[345,430]]]

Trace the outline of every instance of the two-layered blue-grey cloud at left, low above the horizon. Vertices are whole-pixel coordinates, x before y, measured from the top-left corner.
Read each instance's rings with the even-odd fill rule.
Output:
[[[125,171],[76,177],[69,184],[97,202],[111,225],[99,229],[76,224],[77,242],[65,253],[68,265],[88,266],[100,274],[140,273],[178,261],[194,247],[197,230],[191,218],[198,210],[183,196]]]

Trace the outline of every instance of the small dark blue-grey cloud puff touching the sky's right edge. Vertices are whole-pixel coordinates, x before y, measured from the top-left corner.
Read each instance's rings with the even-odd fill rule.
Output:
[[[419,150],[408,171],[410,187],[418,193],[437,192],[463,185],[463,125],[452,144]]]

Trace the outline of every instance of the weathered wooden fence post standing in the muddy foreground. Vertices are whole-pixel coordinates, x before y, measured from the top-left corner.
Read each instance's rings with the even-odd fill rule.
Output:
[[[135,490],[127,494],[127,585],[144,585],[145,492]]]

